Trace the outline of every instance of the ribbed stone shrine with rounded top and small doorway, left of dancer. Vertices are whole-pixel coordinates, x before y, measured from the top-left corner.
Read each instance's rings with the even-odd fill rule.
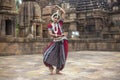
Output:
[[[41,8],[36,0],[23,0],[19,10],[19,37],[42,38]]]

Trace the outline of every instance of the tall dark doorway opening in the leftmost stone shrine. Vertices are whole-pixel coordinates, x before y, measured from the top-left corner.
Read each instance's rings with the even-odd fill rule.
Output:
[[[5,34],[12,35],[12,21],[5,20]]]

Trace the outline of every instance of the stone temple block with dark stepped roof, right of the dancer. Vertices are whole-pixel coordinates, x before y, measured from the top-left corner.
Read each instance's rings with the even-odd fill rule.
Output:
[[[107,27],[108,5],[105,0],[78,0],[76,6],[81,38],[102,38]]]

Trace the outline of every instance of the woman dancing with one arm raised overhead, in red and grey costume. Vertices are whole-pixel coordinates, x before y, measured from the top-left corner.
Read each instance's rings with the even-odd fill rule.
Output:
[[[53,74],[54,67],[56,67],[56,74],[60,74],[60,71],[64,68],[67,54],[68,54],[68,40],[66,34],[62,31],[63,19],[65,11],[55,6],[57,11],[51,16],[52,22],[48,24],[48,32],[53,41],[45,49],[43,62],[49,68],[51,74]]]

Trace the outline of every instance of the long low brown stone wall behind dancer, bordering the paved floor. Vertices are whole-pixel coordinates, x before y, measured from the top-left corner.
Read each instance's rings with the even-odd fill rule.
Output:
[[[14,39],[0,41],[0,55],[43,54],[50,39]],[[120,41],[115,40],[69,40],[69,51],[120,51]]]

